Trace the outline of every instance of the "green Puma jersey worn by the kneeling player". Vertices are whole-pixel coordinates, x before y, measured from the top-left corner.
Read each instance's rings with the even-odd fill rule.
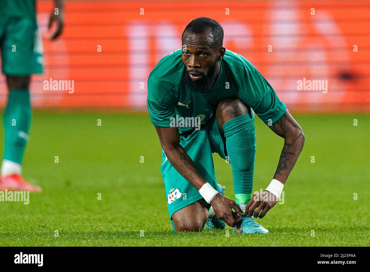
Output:
[[[286,105],[277,97],[266,78],[243,56],[226,50],[220,73],[209,94],[188,90],[183,81],[185,65],[178,49],[163,57],[149,74],[147,106],[157,127],[170,127],[174,118],[198,117],[205,124],[224,98],[239,98],[262,119],[273,124],[285,113]],[[172,122],[172,123],[171,123]],[[181,134],[194,127],[179,127]]]

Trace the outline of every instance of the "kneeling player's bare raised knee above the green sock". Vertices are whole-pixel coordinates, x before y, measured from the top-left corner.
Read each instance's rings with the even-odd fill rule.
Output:
[[[225,98],[218,103],[216,114],[217,118],[223,123],[249,113],[249,107],[238,98]]]

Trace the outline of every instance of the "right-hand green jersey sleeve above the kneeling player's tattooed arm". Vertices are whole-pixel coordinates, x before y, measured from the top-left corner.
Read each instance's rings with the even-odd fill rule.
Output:
[[[246,100],[243,101],[268,125],[279,120],[286,105],[277,97],[275,90],[258,70],[246,69]]]

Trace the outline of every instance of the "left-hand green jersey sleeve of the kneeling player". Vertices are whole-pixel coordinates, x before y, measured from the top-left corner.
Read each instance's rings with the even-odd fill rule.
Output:
[[[147,107],[150,121],[157,127],[169,127],[175,117],[175,94],[172,84],[151,77],[148,79]]]

